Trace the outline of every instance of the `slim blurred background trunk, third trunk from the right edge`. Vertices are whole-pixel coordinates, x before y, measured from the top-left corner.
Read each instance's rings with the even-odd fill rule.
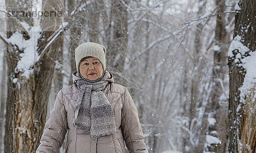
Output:
[[[198,2],[198,17],[201,17],[201,15],[204,13],[206,2],[204,0],[199,0]],[[198,23],[197,29],[195,31],[195,52],[194,52],[194,75],[192,77],[192,85],[191,85],[191,98],[190,98],[190,124],[189,126],[192,127],[190,130],[192,133],[194,133],[193,138],[191,141],[193,141],[195,144],[191,144],[191,141],[189,141],[189,152],[198,152],[202,153],[204,150],[204,143],[205,143],[205,135],[207,131],[207,113],[203,113],[202,123],[200,124],[198,122],[198,108],[203,107],[202,104],[202,95],[199,93],[199,88],[201,87],[201,83],[203,82],[201,78],[203,77],[202,68],[200,67],[200,64],[202,61],[199,60],[199,58],[202,56],[201,48],[202,48],[202,42],[201,42],[201,31],[203,28],[203,23]],[[197,134],[196,134],[197,133]]]

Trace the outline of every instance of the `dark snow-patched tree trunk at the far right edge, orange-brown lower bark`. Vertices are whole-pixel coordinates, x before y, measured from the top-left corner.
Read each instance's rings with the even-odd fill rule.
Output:
[[[236,4],[235,33],[228,52],[230,71],[229,152],[256,152],[256,0]]]

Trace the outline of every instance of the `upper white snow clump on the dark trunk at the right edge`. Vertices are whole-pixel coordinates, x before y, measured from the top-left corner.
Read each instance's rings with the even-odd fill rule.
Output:
[[[239,50],[241,56],[243,56],[246,52],[250,51],[247,46],[244,46],[244,44],[241,43],[241,36],[239,35],[236,35],[236,37],[232,40],[230,48],[228,50],[228,57],[233,57],[233,50],[236,49]]]

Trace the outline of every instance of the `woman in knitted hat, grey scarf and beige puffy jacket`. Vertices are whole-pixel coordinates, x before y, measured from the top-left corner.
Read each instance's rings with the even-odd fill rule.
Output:
[[[75,49],[73,85],[62,88],[36,153],[148,153],[138,110],[126,87],[105,70],[106,49],[82,43]],[[125,141],[125,144],[124,144]]]

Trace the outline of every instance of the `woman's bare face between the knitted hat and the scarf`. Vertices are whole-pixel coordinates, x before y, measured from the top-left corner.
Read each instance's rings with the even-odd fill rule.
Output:
[[[79,71],[84,78],[96,80],[102,76],[103,67],[98,58],[89,57],[80,61]]]

